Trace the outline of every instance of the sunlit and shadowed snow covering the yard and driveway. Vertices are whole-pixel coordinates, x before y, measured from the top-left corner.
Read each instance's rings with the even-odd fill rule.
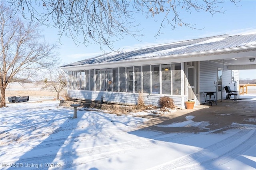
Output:
[[[73,108],[59,103],[31,98],[0,109],[0,169],[256,169],[255,125],[234,122],[223,133],[167,133],[139,128],[148,119],[135,116],[150,112],[118,116],[78,107],[72,119]],[[158,126],[208,125],[193,119]]]

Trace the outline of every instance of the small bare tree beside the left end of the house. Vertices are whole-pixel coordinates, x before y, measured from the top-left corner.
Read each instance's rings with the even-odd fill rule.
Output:
[[[44,77],[44,87],[42,89],[54,90],[57,93],[56,100],[60,98],[60,92],[68,85],[66,73],[60,69],[49,71]]]

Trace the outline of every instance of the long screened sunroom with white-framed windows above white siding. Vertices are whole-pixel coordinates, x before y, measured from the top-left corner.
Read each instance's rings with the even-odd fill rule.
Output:
[[[136,105],[138,94],[143,93],[146,105],[157,105],[161,96],[180,103],[183,68],[184,63],[163,63],[68,71],[69,95],[72,99],[100,101],[103,97],[104,102]]]

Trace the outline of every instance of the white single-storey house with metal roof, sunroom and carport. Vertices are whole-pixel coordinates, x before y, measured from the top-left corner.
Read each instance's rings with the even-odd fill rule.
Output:
[[[239,70],[256,69],[256,34],[220,35],[106,53],[61,68],[68,71],[71,99],[136,105],[140,91],[145,104],[162,96],[184,102],[205,102],[205,91],[226,97],[224,86],[239,87]]]

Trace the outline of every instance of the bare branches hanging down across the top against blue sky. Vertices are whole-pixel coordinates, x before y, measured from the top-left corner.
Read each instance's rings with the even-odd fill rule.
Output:
[[[236,4],[237,0],[230,0]],[[178,26],[201,29],[186,23],[180,16],[183,12],[205,11],[214,15],[224,13],[223,0],[9,0],[12,8],[28,20],[59,29],[76,44],[97,43],[114,50],[113,42],[130,35],[142,36],[137,30],[135,13],[146,18],[162,20],[156,36],[162,28]],[[220,6],[219,6],[220,5]],[[169,30],[169,29],[168,29]],[[80,40],[80,36],[83,39]]]

